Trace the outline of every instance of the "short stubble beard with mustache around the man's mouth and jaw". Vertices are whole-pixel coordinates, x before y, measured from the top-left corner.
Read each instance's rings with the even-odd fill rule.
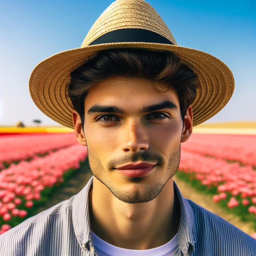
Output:
[[[119,159],[113,159],[108,163],[109,170],[111,169],[111,166],[115,166],[115,164],[117,163],[122,164],[127,163],[129,161],[135,162],[136,160],[139,159],[144,161],[157,160],[160,168],[166,168],[166,173],[159,183],[156,183],[153,186],[148,186],[146,189],[144,189],[143,192],[139,190],[139,184],[144,181],[145,177],[126,177],[128,181],[130,181],[133,184],[136,184],[138,188],[133,191],[120,190],[117,189],[115,185],[111,183],[111,181],[107,181],[106,179],[102,178],[103,176],[101,175],[101,173],[104,171],[103,165],[101,161],[91,153],[89,148],[88,159],[94,177],[96,177],[97,180],[104,184],[116,198],[128,204],[146,203],[155,199],[161,193],[161,191],[164,188],[164,185],[168,182],[168,180],[170,180],[173,177],[173,175],[175,175],[175,173],[177,172],[177,169],[180,165],[180,146],[177,148],[175,152],[173,152],[170,155],[167,163],[164,162],[161,156],[150,154],[147,152],[122,157]]]

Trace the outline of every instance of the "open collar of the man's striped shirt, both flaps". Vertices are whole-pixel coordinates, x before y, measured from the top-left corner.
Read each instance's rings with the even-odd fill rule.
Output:
[[[72,207],[72,220],[76,238],[84,249],[94,250],[89,219],[88,198],[92,187],[90,178],[85,187],[75,196]],[[195,236],[193,233],[194,213],[188,200],[181,195],[174,182],[174,193],[180,204],[180,225],[178,228],[179,249],[184,255],[190,255],[194,250]]]

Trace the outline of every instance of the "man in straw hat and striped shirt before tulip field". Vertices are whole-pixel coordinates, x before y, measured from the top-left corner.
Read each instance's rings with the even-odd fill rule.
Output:
[[[39,63],[29,86],[40,110],[74,127],[94,176],[0,236],[1,255],[256,255],[256,240],[173,182],[180,143],[225,106],[233,76],[177,46],[149,4],[114,2],[81,48]]]

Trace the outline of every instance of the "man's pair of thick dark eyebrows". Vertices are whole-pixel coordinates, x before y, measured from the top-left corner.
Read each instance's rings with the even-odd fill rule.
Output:
[[[150,106],[144,106],[143,108],[141,108],[139,110],[140,114],[146,114],[148,112],[153,112],[153,111],[157,111],[160,109],[164,109],[164,108],[168,108],[171,110],[177,110],[177,106],[171,102],[171,101],[162,101],[160,103],[157,104],[153,104]],[[97,112],[102,112],[102,113],[113,113],[113,114],[121,114],[124,115],[125,111],[117,106],[102,106],[102,105],[94,105],[92,107],[89,108],[89,110],[87,111],[88,115],[92,115],[92,113],[97,113]]]

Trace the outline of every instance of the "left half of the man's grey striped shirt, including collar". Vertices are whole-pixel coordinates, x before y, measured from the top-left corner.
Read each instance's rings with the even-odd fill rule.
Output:
[[[85,255],[89,236],[88,193],[92,178],[70,199],[38,213],[0,236],[0,255]]]

